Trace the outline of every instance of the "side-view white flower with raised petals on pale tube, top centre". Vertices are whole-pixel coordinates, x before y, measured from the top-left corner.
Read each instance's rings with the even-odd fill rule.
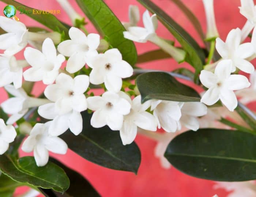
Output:
[[[157,29],[157,15],[154,14],[150,17],[149,12],[146,10],[143,13],[144,27],[128,27],[128,31],[123,32],[124,38],[133,40],[135,42],[145,43],[154,37],[155,30]]]

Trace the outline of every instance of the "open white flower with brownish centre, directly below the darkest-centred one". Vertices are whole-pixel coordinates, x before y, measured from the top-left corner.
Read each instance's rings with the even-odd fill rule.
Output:
[[[102,96],[87,98],[88,109],[93,110],[91,126],[100,128],[108,125],[111,130],[120,130],[124,115],[130,113],[131,103],[124,98],[124,92],[106,91]]]

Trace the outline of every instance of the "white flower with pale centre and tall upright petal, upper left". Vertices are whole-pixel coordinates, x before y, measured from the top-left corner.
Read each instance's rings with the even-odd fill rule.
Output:
[[[44,84],[52,84],[59,75],[61,64],[65,57],[57,55],[56,48],[50,38],[46,38],[42,44],[42,52],[31,47],[24,51],[24,57],[32,66],[23,73],[27,81],[43,81]]]

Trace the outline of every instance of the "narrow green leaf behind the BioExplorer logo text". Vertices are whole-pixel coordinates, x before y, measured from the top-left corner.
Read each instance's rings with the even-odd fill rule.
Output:
[[[27,7],[26,5],[23,5],[14,0],[0,0],[0,1],[3,1],[4,3],[9,5],[13,5],[19,11],[24,11],[25,9],[27,11],[25,12],[27,16],[45,25],[49,29],[52,29],[53,31],[64,33],[65,39],[69,39],[68,30],[70,27],[67,24],[64,24],[61,21],[59,21],[54,15],[42,14],[42,13],[33,14],[33,11],[39,12],[39,10]]]

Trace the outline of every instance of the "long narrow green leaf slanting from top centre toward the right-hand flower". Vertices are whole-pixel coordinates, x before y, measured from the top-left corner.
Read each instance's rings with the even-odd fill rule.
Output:
[[[150,0],[138,0],[144,7],[151,12],[157,14],[158,19],[165,25],[165,27],[173,34],[178,40],[183,49],[188,52],[187,61],[196,69],[195,78],[203,70],[204,65],[204,52],[196,43],[196,41],[170,16],[168,16],[162,9],[155,5]]]

